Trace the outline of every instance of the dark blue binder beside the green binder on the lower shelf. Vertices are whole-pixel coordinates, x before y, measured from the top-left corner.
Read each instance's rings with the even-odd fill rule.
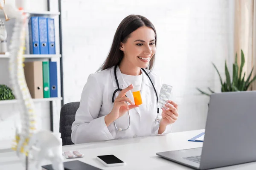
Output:
[[[58,97],[57,62],[49,61],[50,97]]]

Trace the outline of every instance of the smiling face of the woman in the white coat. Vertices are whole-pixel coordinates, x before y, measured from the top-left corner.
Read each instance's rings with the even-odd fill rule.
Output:
[[[148,67],[149,61],[156,52],[155,34],[152,28],[143,26],[133,31],[120,49],[129,65],[140,68]]]

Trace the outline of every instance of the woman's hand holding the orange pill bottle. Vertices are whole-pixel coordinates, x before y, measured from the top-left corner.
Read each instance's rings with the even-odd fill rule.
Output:
[[[127,88],[123,89],[116,97],[112,111],[105,116],[105,123],[107,126],[119,117],[123,116],[127,111],[139,107],[138,105],[134,105],[131,99],[125,96],[125,94],[131,89],[133,89],[133,85],[129,85]],[[127,102],[131,105],[128,105]]]

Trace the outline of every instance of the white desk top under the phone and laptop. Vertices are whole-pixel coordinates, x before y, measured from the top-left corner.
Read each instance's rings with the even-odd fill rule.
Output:
[[[165,136],[146,136],[131,139],[119,139],[105,142],[93,142],[87,144],[76,144],[63,146],[65,150],[81,150],[83,158],[77,160],[99,167],[103,170],[191,170],[180,164],[162,159],[156,155],[157,152],[167,150],[180,150],[202,147],[202,142],[188,142],[193,136],[204,130],[193,130],[187,132],[170,133]],[[1,153],[2,152],[2,153]],[[125,166],[105,167],[98,160],[97,155],[113,154],[126,162]],[[64,159],[72,161],[75,159]],[[49,164],[50,162],[44,162]],[[0,170],[25,170],[21,168],[15,152],[0,151]],[[218,170],[252,170],[256,169],[256,162],[240,164],[231,167],[218,168]],[[41,170],[41,168],[40,168]]]

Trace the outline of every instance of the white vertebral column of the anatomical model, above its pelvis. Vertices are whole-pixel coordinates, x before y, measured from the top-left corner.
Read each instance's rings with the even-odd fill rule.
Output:
[[[17,151],[17,155],[20,158],[24,158],[29,154],[29,138],[36,130],[35,109],[26,85],[23,69],[23,51],[28,20],[22,9],[18,10],[12,4],[5,4],[3,10],[5,14],[8,14],[8,17],[15,18],[15,26],[9,46],[9,71],[13,93],[21,106],[21,128],[16,130],[15,145],[12,148]]]

